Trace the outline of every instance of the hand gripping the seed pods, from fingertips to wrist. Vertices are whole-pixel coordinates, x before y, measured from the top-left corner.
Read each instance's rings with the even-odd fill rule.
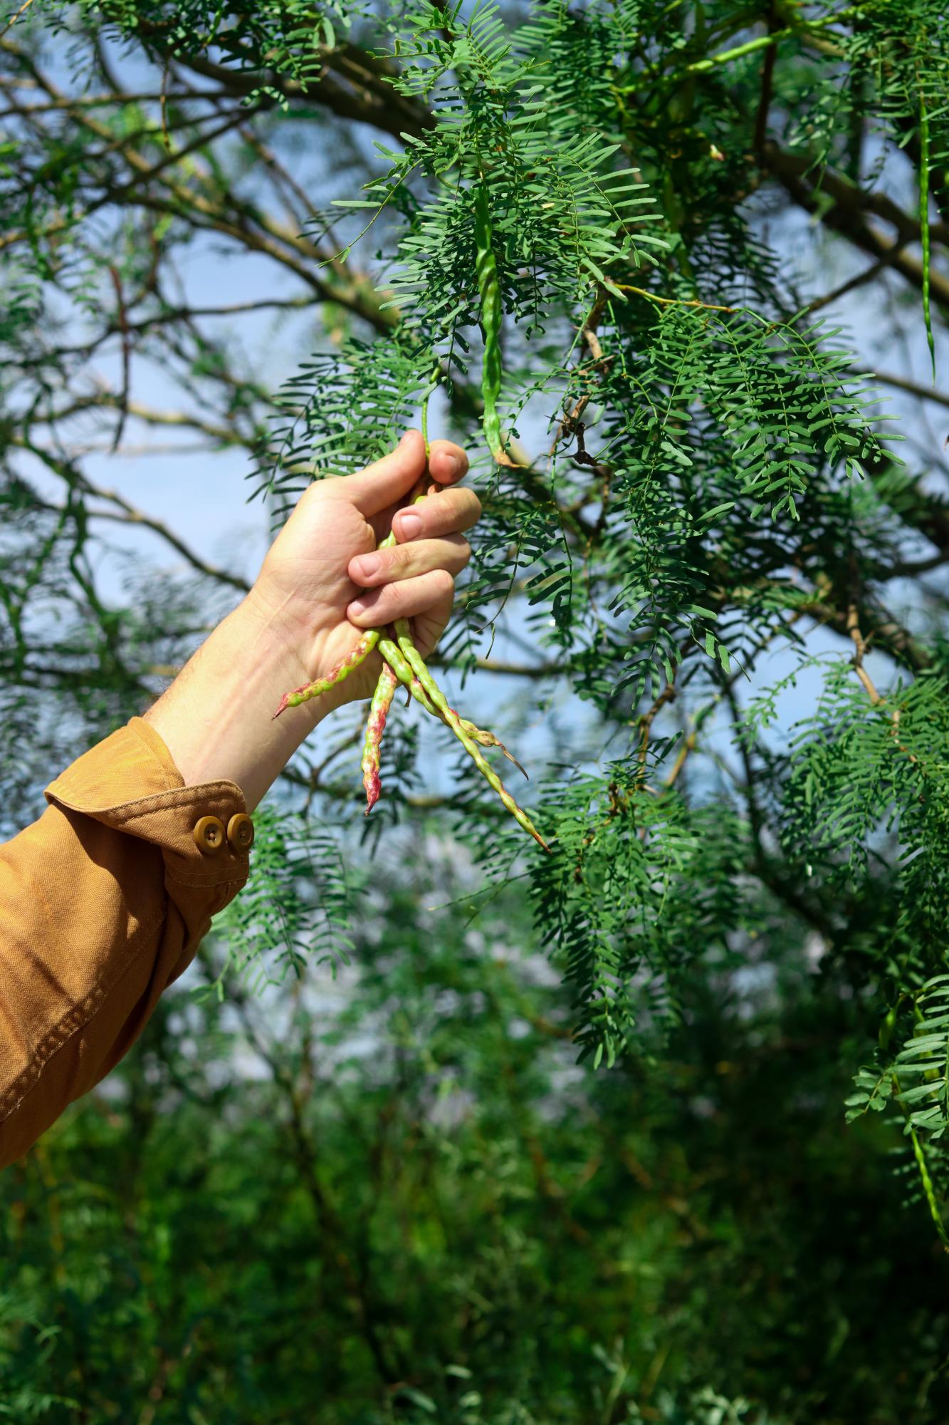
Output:
[[[422,435],[409,430],[365,470],[313,482],[271,546],[247,603],[284,643],[299,668],[298,685],[335,667],[362,630],[412,618],[422,657],[442,636],[455,576],[470,559],[463,532],[477,520],[480,503],[473,490],[452,489],[467,472],[465,452],[433,440],[430,490],[400,509],[425,467]],[[376,550],[389,529],[396,544]],[[373,653],[345,683],[315,698],[319,707],[306,704],[311,715],[369,697],[379,670]]]

